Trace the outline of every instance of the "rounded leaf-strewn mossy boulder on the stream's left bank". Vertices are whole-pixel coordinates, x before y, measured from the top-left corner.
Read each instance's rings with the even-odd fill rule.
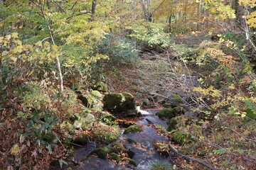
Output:
[[[92,128],[92,135],[96,142],[109,144],[119,138],[120,132],[117,125],[109,126],[104,123],[99,123]]]

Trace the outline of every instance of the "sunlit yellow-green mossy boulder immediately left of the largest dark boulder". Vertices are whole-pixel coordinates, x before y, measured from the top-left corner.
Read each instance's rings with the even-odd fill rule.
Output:
[[[80,94],[78,96],[82,104],[87,108],[93,108],[97,111],[102,111],[104,104],[102,103],[101,99],[97,96],[92,94]]]

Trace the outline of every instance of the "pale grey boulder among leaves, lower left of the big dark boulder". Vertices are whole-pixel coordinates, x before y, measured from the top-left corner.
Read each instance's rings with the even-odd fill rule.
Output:
[[[76,129],[86,130],[86,129],[92,127],[94,121],[95,121],[95,116],[88,113],[82,117],[79,116],[78,119],[75,120],[73,126]]]

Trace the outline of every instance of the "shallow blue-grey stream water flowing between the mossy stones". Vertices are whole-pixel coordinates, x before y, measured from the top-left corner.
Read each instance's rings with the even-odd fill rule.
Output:
[[[75,150],[74,153],[74,162],[76,164],[69,165],[72,169],[82,170],[112,170],[112,169],[135,169],[135,170],[147,170],[150,169],[150,166],[153,162],[157,160],[161,162],[170,162],[169,157],[161,156],[154,147],[154,142],[156,141],[168,141],[167,137],[158,135],[154,128],[149,126],[149,124],[158,124],[167,128],[165,120],[160,120],[156,113],[159,110],[149,110],[148,114],[142,115],[136,125],[142,125],[142,132],[130,132],[128,134],[123,134],[124,128],[121,128],[122,135],[119,137],[119,140],[116,142],[123,143],[127,146],[128,149],[131,149],[135,154],[132,159],[137,163],[137,166],[134,167],[130,164],[114,164],[113,162],[108,161],[107,159],[100,159],[94,155],[90,155],[93,149],[96,149],[95,143],[90,143],[86,147],[81,147]],[[135,140],[137,143],[128,142],[128,139]],[[110,144],[111,145],[111,144]]]

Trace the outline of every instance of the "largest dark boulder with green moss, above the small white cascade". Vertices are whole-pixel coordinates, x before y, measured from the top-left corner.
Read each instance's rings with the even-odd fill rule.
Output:
[[[127,111],[135,108],[134,96],[129,93],[106,94],[103,101],[108,111]]]

